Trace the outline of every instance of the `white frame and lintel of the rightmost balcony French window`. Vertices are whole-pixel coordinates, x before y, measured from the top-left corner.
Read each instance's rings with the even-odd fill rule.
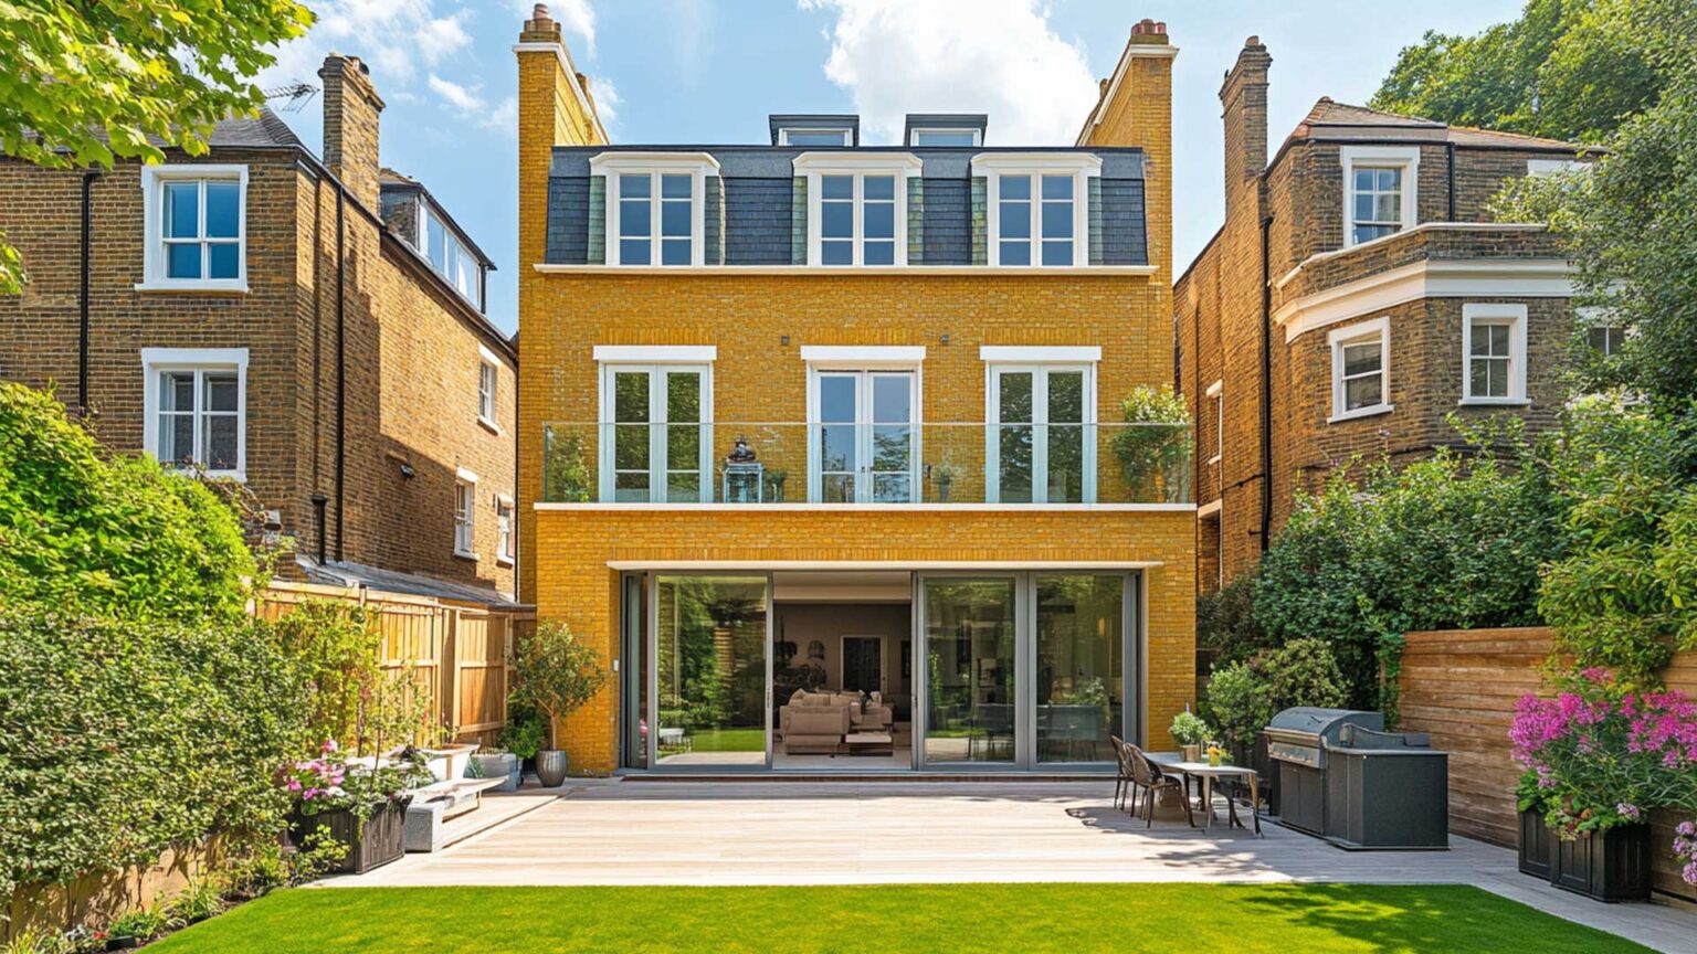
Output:
[[[1032,504],[1049,502],[1049,375],[1084,372],[1084,458],[1079,504],[1096,502],[1096,367],[1101,348],[979,348],[984,362],[984,502],[1001,502],[1001,389],[1005,372],[1032,375]],[[1044,479],[1039,479],[1044,477]],[[1010,504],[1027,506],[1027,504]]]

